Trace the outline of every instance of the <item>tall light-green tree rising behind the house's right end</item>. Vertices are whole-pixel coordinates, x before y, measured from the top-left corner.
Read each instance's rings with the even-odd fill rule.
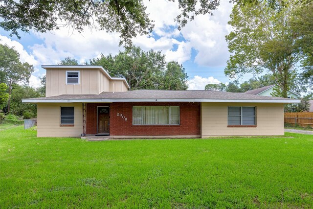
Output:
[[[304,57],[291,29],[291,15],[296,7],[292,0],[246,1],[233,7],[228,22],[234,31],[226,35],[229,51],[225,74],[270,72],[287,97],[296,77],[295,65]]]

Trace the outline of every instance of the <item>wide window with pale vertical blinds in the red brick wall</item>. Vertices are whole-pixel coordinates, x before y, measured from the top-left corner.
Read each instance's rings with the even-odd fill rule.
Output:
[[[179,106],[134,106],[133,125],[179,125]]]

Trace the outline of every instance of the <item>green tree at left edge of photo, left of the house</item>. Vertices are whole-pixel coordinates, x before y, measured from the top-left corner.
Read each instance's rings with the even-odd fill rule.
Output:
[[[8,112],[10,112],[10,95],[12,85],[17,83],[29,83],[31,73],[34,71],[32,65],[22,63],[20,54],[7,45],[0,44],[0,83],[8,85]]]

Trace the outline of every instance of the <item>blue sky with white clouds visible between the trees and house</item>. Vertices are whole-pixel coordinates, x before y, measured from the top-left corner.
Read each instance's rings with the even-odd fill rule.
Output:
[[[221,0],[221,5],[214,16],[197,16],[186,24],[181,31],[177,29],[174,18],[179,14],[177,2],[168,0],[144,0],[150,19],[155,28],[151,36],[140,36],[133,40],[144,50],[151,48],[162,50],[167,61],[178,61],[185,68],[190,90],[204,89],[208,83],[229,82],[224,75],[224,68],[229,57],[224,36],[231,31],[227,24],[232,4]],[[45,74],[41,65],[54,65],[66,56],[84,62],[99,56],[100,53],[113,55],[118,50],[119,35],[95,31],[86,28],[82,34],[71,28],[47,33],[20,33],[21,39],[10,37],[9,32],[0,28],[0,43],[15,46],[21,54],[21,60],[34,65],[35,72],[30,85],[38,87],[38,77]],[[246,75],[242,80],[251,78]]]

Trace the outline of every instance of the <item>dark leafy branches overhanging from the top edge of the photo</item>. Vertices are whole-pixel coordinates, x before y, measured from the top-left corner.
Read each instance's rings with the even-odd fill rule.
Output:
[[[175,0],[170,0],[175,1]],[[179,29],[200,14],[212,14],[219,0],[178,0]],[[200,4],[200,7],[197,4]],[[2,0],[0,27],[17,35],[19,30],[39,32],[59,29],[60,21],[78,32],[85,26],[120,33],[120,44],[131,46],[136,35],[149,34],[153,21],[142,0]]]

